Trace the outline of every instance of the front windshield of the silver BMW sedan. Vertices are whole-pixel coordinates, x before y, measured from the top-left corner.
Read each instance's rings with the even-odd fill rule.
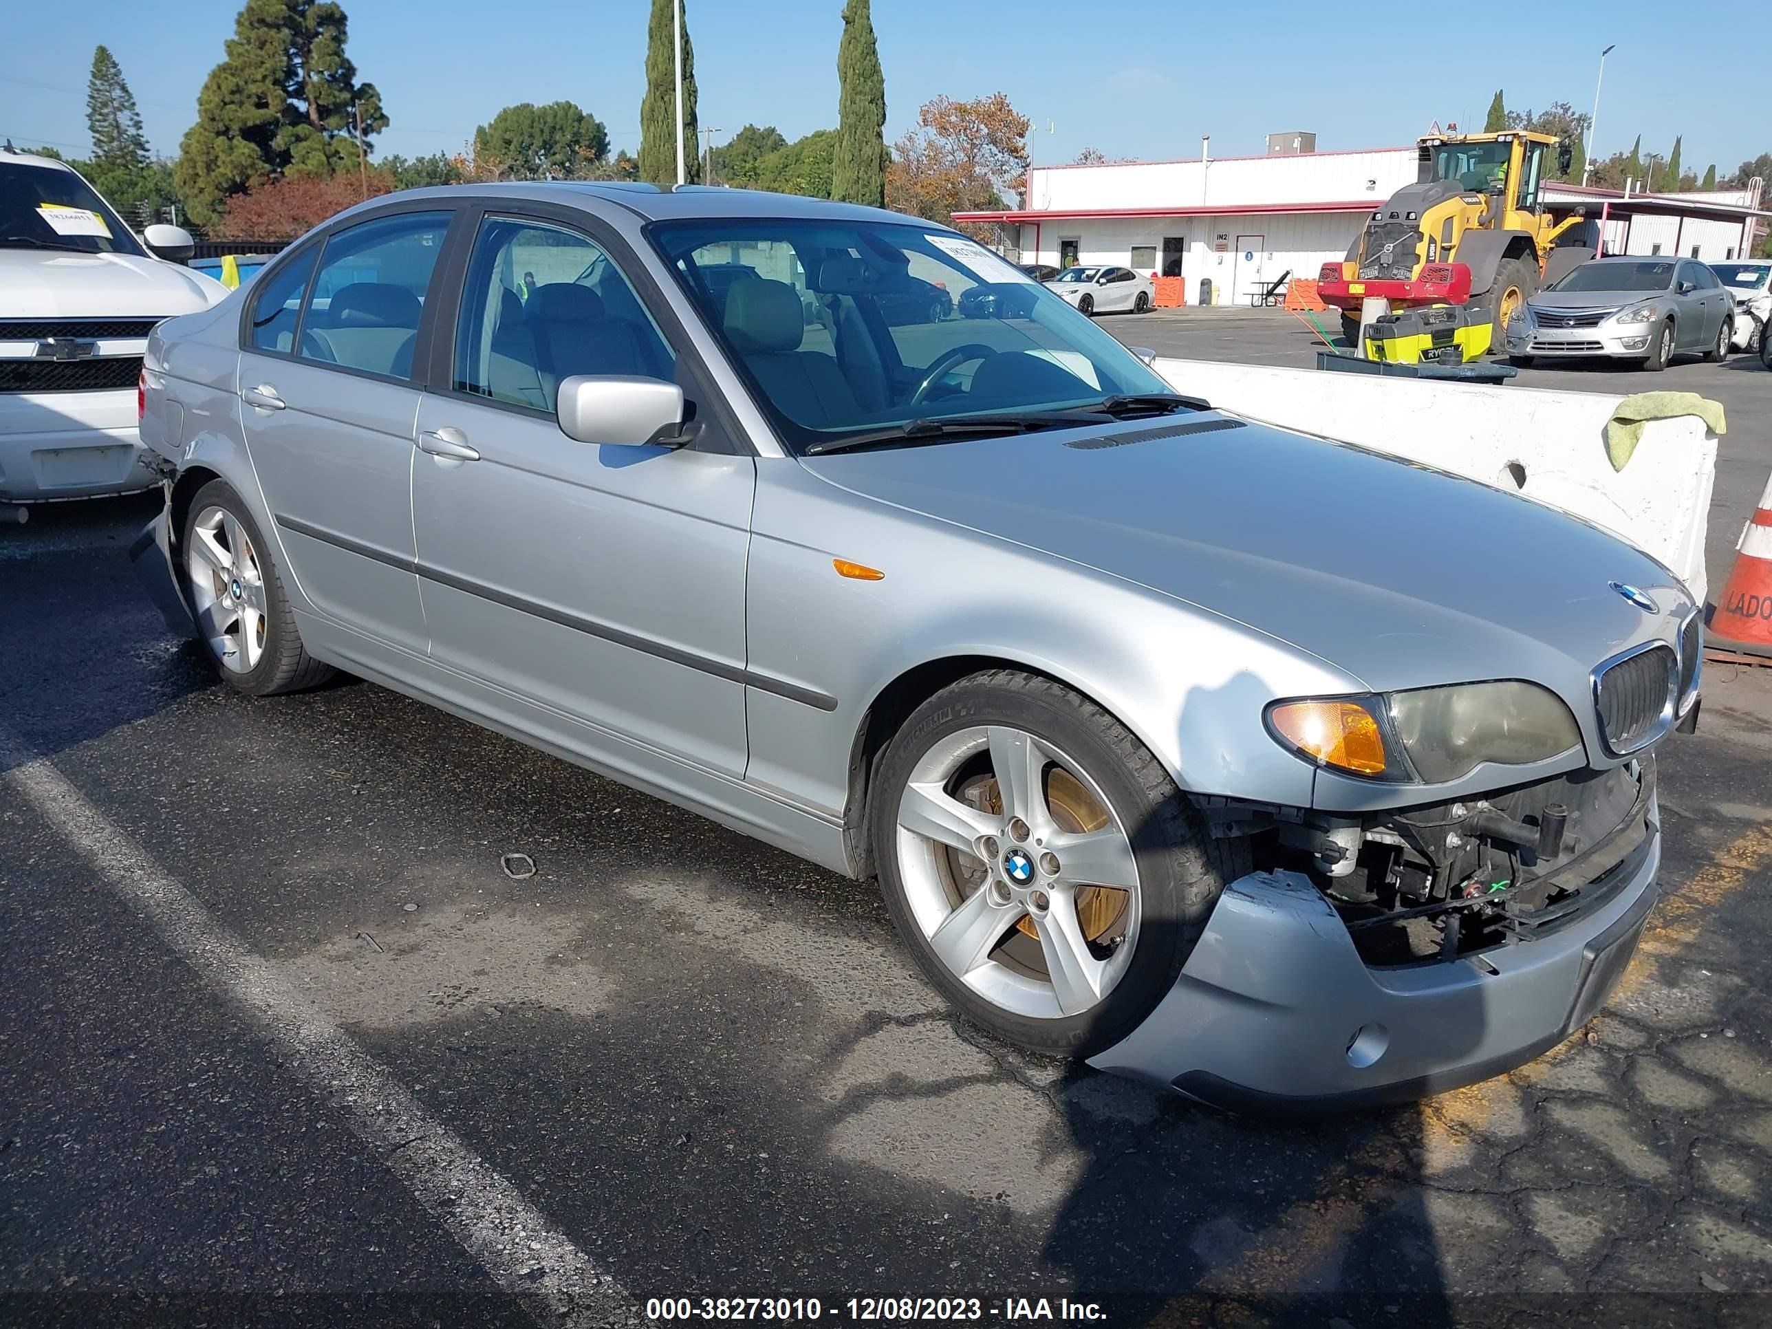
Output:
[[[952,230],[730,218],[647,234],[796,450],[1173,393],[1088,317]],[[960,317],[968,291],[991,299]]]

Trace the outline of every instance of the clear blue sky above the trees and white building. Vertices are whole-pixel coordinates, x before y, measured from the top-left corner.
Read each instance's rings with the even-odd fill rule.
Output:
[[[346,9],[349,53],[392,117],[377,152],[454,151],[500,106],[560,97],[610,126],[615,147],[638,145],[647,0],[346,0]],[[175,151],[236,12],[237,0],[11,7],[0,44],[0,135],[83,152],[87,69],[92,46],[105,43],[154,147]],[[727,138],[751,120],[794,138],[836,122],[842,0],[686,0],[686,12],[703,126]],[[1419,7],[1398,11],[1396,25],[1363,12],[1366,19],[1345,5],[1292,0],[1120,0],[1109,9],[875,0],[888,138],[914,124],[918,105],[936,94],[1001,89],[1038,122],[1040,161],[1070,161],[1084,147],[1194,156],[1201,133],[1212,135],[1214,156],[1235,156],[1260,152],[1272,129],[1315,129],[1320,149],[1395,145],[1435,119],[1480,128],[1497,85],[1510,106],[1566,99],[1586,110],[1598,50],[1618,43],[1605,66],[1602,154],[1628,149],[1637,133],[1644,151],[1660,152],[1685,135],[1683,161],[1699,172],[1710,161],[1729,172],[1772,151],[1765,80],[1747,94],[1676,55],[1703,48],[1706,32],[1735,30],[1740,11],[1721,0],[1678,11],[1666,0],[1529,5],[1504,39],[1473,39],[1467,18],[1448,21],[1444,37],[1409,32],[1426,14]],[[1384,37],[1387,28],[1398,35]],[[1359,78],[1363,43],[1375,50],[1364,62],[1370,85]],[[1506,67],[1522,55],[1522,69]],[[1715,67],[1729,67],[1721,51]]]

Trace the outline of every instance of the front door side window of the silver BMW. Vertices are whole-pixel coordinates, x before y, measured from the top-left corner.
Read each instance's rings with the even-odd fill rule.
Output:
[[[672,379],[675,360],[597,245],[562,227],[487,218],[468,264],[455,390],[553,411],[560,379],[574,374]]]

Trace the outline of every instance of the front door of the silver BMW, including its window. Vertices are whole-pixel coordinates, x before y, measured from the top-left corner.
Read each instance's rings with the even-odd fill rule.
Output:
[[[478,223],[450,369],[418,408],[431,654],[478,709],[620,769],[657,774],[666,753],[739,778],[753,459],[716,450],[705,395],[700,447],[578,443],[555,418],[576,374],[696,399],[611,243],[535,214]]]

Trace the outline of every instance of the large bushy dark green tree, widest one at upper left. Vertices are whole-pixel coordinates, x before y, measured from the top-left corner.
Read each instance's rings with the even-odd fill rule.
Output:
[[[388,117],[344,46],[346,12],[330,0],[246,0],[179,154],[193,222],[207,225],[227,197],[266,179],[356,168],[358,120],[367,152]]]

